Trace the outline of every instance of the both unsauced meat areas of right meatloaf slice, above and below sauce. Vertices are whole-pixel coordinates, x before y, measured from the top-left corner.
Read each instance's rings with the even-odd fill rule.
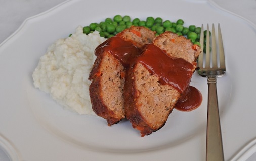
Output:
[[[194,72],[201,50],[190,40],[165,32],[153,43],[170,57],[183,58],[192,63],[194,68],[191,72]],[[172,86],[160,84],[159,76],[152,75],[142,63],[136,62],[130,66],[124,85],[126,118],[141,132],[142,137],[149,135],[165,125],[181,94]]]

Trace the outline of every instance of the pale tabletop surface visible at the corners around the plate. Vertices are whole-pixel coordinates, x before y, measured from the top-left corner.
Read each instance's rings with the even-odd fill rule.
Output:
[[[14,33],[26,18],[62,2],[64,0],[0,0],[0,43]],[[220,7],[256,24],[256,0],[215,0],[215,2]],[[2,150],[0,150],[0,160],[9,160]],[[248,160],[256,160],[256,154]]]

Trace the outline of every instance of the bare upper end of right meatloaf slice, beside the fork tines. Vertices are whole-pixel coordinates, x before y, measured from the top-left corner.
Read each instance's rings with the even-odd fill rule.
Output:
[[[198,45],[194,45],[184,36],[169,31],[157,36],[153,40],[153,44],[164,50],[170,57],[183,58],[190,63],[195,62],[201,53],[201,48]]]

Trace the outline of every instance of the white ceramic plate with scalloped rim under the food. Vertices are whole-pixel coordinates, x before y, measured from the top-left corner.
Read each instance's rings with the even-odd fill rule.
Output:
[[[159,131],[140,137],[128,121],[106,121],[64,110],[35,89],[32,72],[39,57],[78,25],[116,14],[146,19],[183,19],[184,26],[220,23],[227,74],[218,78],[225,160],[236,159],[256,137],[254,107],[255,25],[223,11],[211,1],[67,1],[27,19],[0,44],[0,145],[13,160],[204,160],[207,81],[196,73],[191,85],[202,105],[191,112],[174,110]]]

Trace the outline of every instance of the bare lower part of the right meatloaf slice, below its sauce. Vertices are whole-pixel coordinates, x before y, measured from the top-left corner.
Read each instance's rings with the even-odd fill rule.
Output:
[[[165,125],[181,95],[173,87],[160,84],[159,77],[141,63],[128,72],[124,91],[126,118],[142,137]]]

